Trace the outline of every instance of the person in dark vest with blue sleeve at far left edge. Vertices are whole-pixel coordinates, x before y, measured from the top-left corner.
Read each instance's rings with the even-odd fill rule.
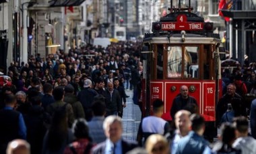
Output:
[[[5,108],[0,110],[0,153],[5,153],[9,141],[26,139],[26,125],[22,114],[13,110],[15,104],[15,96],[7,94],[5,96]]]

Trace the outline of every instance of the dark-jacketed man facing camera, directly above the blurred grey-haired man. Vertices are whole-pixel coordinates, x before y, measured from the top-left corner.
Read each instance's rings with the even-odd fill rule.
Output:
[[[108,82],[108,88],[104,92],[105,102],[106,102],[106,116],[117,115],[122,112],[122,103],[118,90],[114,89],[112,82]]]

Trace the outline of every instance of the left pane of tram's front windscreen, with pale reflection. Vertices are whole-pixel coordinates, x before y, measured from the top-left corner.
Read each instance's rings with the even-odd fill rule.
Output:
[[[181,78],[182,70],[182,48],[172,46],[168,50],[168,78]]]

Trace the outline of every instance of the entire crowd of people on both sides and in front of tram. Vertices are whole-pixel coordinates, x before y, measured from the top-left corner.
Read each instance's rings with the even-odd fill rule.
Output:
[[[256,91],[254,64],[222,74],[217,143],[203,138],[205,121],[185,85],[170,108],[174,130],[157,99],[152,116],[141,119],[137,142],[123,139],[125,90],[133,90],[135,104],[141,96],[140,50],[141,42],[118,42],[12,62],[0,81],[0,153],[256,153],[256,99],[243,103]]]

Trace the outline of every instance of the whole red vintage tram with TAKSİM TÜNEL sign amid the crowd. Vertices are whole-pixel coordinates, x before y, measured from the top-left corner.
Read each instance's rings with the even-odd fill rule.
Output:
[[[190,3],[190,2],[189,2]],[[221,40],[213,23],[192,13],[191,6],[174,8],[152,23],[143,38],[143,116],[152,113],[152,102],[164,100],[163,118],[172,121],[170,107],[182,85],[195,97],[205,121],[214,123],[220,98]]]

